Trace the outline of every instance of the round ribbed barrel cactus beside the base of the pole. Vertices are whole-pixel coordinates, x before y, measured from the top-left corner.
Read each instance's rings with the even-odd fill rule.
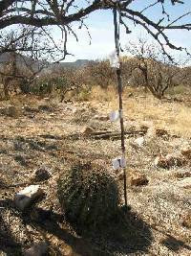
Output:
[[[117,183],[104,169],[78,163],[58,180],[58,198],[67,221],[91,229],[117,213]]]

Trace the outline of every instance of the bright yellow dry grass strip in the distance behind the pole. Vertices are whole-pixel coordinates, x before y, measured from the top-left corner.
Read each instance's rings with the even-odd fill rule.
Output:
[[[114,88],[105,91],[96,87],[92,95],[90,100],[93,104],[104,102],[109,109],[118,108],[117,91]],[[129,95],[133,97],[128,97]],[[189,101],[180,103],[171,99],[159,101],[149,93],[144,94],[141,90],[127,88],[123,93],[123,104],[124,115],[128,121],[135,120],[140,124],[165,128],[177,135],[191,137],[191,102]]]

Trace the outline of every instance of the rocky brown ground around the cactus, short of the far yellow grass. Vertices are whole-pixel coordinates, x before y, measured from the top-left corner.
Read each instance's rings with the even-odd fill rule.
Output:
[[[56,180],[83,159],[114,175],[123,201],[118,123],[107,103],[68,103],[0,109],[0,255],[190,255],[191,138],[125,113],[127,195],[123,221],[78,234],[64,219]],[[186,153],[185,153],[186,151]],[[169,156],[169,154],[171,156]],[[41,171],[39,171],[41,170]],[[43,171],[44,170],[44,171]],[[14,197],[30,185],[44,196],[20,210]]]

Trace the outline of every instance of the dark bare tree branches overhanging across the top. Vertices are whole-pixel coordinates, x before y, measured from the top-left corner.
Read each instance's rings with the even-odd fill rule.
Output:
[[[145,1],[142,10],[138,9],[138,0],[2,0],[0,1],[0,30],[15,24],[32,26],[45,29],[56,25],[63,34],[63,45],[65,56],[67,52],[68,35],[76,37],[73,23],[79,23],[79,29],[87,28],[85,19],[87,15],[97,10],[114,10],[120,12],[120,24],[122,24],[127,33],[131,33],[129,24],[141,26],[146,32],[152,35],[158,42],[163,52],[166,47],[182,50],[180,46],[175,45],[168,37],[170,30],[190,31],[191,23],[185,22],[185,17],[191,13],[188,1],[171,0],[173,9],[175,6],[185,5],[187,12],[181,12],[177,17],[171,19],[171,13],[168,13],[168,0]],[[184,3],[185,2],[185,3]],[[148,14],[153,8],[159,7],[161,15],[153,19]],[[88,32],[89,33],[89,32]],[[50,34],[47,34],[50,37]],[[170,56],[169,56],[170,58]]]

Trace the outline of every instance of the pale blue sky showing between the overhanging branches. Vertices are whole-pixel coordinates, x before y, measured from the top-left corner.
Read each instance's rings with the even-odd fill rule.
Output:
[[[156,2],[156,0],[135,0],[135,3],[130,7],[134,10],[142,10],[148,4]],[[166,11],[170,13],[172,20],[179,17],[185,12],[191,11],[191,0],[185,0],[184,5],[177,5],[172,7],[170,0],[167,0]],[[144,12],[152,20],[159,20],[162,16],[161,8],[154,7]],[[191,14],[182,19],[182,22],[191,23]],[[78,25],[74,24],[73,28],[78,36],[78,42],[76,42],[74,36],[70,36],[68,40],[68,51],[73,54],[74,57],[68,56],[65,61],[74,61],[76,59],[103,59],[108,58],[115,51],[114,41],[114,26],[113,26],[113,12],[112,11],[98,11],[89,15],[86,20],[86,24],[91,34],[90,38],[85,29],[78,30]],[[137,26],[135,27],[129,20],[127,24],[132,31],[129,35],[126,35],[124,29],[120,29],[120,44],[124,49],[125,45],[129,41],[136,41],[138,37],[144,37],[148,40],[150,36],[145,32],[144,29]],[[191,31],[171,31],[168,32],[169,38],[178,46],[187,47],[191,49]],[[53,36],[56,40],[60,41],[60,32],[54,29]]]

